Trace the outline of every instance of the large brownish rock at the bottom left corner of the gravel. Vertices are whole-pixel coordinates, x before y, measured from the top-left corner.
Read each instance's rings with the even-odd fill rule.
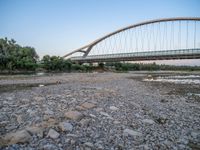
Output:
[[[27,143],[32,139],[31,135],[26,130],[17,131],[15,133],[8,133],[2,139],[2,145],[10,145],[17,143]]]

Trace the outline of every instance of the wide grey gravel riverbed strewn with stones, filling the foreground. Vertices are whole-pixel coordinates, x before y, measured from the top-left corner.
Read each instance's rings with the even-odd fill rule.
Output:
[[[2,78],[0,149],[200,149],[200,85],[144,81],[147,77]]]

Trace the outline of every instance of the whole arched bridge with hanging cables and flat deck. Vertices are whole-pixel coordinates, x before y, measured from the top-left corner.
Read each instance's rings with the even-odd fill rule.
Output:
[[[78,48],[79,62],[200,58],[200,17],[163,18],[133,24]]]

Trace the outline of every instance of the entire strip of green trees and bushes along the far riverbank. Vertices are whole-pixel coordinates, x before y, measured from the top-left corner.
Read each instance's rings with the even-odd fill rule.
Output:
[[[200,71],[200,66],[172,66],[156,63],[122,63],[110,62],[99,64],[77,64],[59,56],[45,55],[42,59],[30,46],[21,46],[14,39],[0,39],[0,73],[15,72],[91,72],[91,71],[156,71],[181,70]]]

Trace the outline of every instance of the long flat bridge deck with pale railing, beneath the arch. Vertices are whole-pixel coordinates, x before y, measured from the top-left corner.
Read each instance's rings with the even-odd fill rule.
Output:
[[[70,59],[78,63],[170,60],[170,59],[200,59],[200,48],[118,53],[118,54],[105,54],[105,55],[88,55],[86,57],[82,56],[71,57]]]

